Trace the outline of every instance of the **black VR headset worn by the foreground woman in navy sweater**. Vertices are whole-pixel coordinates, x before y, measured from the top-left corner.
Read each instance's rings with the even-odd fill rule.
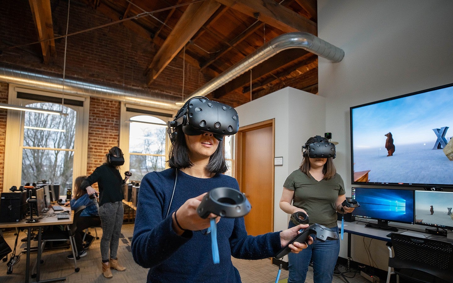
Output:
[[[224,136],[237,133],[239,117],[231,106],[209,100],[204,96],[195,96],[179,109],[173,121],[169,121],[167,125],[167,133],[172,144],[178,134],[175,131],[178,126],[182,126],[183,133],[187,135],[209,132],[214,138],[223,140]]]

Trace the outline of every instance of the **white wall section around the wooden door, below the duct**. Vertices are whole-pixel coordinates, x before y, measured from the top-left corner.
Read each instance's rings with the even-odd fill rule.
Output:
[[[283,183],[302,161],[302,145],[308,138],[325,132],[325,102],[321,96],[285,87],[236,107],[239,126],[275,119],[275,156],[283,166],[275,166],[274,230],[288,227],[289,216],[280,209]]]

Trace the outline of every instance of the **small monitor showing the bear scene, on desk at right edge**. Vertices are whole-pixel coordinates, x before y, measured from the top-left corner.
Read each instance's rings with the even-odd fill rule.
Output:
[[[415,224],[431,226],[426,232],[446,236],[444,229],[453,230],[452,213],[453,192],[415,191]]]

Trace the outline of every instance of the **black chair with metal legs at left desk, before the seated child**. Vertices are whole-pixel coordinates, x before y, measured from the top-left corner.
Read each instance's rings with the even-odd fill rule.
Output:
[[[74,211],[74,220],[72,221],[71,225],[66,225],[66,230],[52,230],[52,231],[46,231],[45,233],[42,234],[41,239],[41,251],[44,251],[44,246],[46,245],[46,242],[49,241],[67,241],[69,240],[69,243],[71,245],[72,249],[72,256],[74,257],[74,270],[75,272],[79,272],[80,268],[77,267],[77,259],[80,259],[78,256],[78,251],[76,247],[76,241],[74,240],[74,234],[77,230],[77,218],[80,216],[82,211],[85,209],[85,206],[79,206],[76,211]],[[41,263],[44,261],[41,259]],[[34,264],[33,267],[33,273],[35,274],[36,271],[36,264]]]

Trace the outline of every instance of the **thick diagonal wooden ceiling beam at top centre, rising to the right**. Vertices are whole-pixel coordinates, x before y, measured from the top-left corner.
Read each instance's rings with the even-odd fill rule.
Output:
[[[188,5],[147,69],[148,85],[159,76],[184,45],[215,13],[220,4],[214,0]]]

